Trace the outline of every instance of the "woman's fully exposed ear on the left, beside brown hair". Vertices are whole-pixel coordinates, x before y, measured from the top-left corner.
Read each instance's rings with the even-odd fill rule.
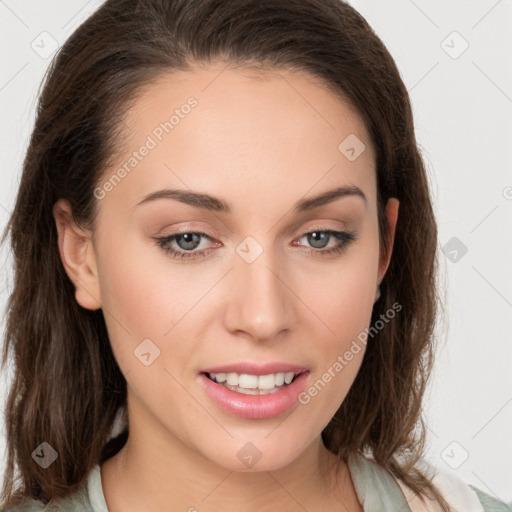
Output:
[[[59,199],[53,206],[57,224],[60,258],[75,285],[75,298],[85,309],[101,308],[96,255],[91,232],[79,228],[72,215],[69,201]]]

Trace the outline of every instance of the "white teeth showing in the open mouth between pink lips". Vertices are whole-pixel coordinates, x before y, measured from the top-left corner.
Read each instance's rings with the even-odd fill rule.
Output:
[[[220,386],[243,395],[271,395],[289,386],[307,370],[252,375],[235,372],[203,372],[208,379]]]

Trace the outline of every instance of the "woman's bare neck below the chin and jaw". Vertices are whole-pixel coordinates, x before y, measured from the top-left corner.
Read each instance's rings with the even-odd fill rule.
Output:
[[[232,471],[166,430],[148,434],[130,423],[126,444],[102,464],[101,475],[111,512],[170,507],[189,512],[313,511],[325,504],[342,510],[341,504],[353,496],[346,465],[325,448],[320,436],[286,467]]]

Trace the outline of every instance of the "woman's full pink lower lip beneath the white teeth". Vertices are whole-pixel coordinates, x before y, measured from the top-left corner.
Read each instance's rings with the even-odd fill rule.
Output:
[[[270,395],[243,395],[213,382],[204,373],[199,375],[199,380],[223,411],[239,418],[261,420],[279,416],[293,407],[304,391],[308,375],[309,372],[301,373],[291,384]]]

